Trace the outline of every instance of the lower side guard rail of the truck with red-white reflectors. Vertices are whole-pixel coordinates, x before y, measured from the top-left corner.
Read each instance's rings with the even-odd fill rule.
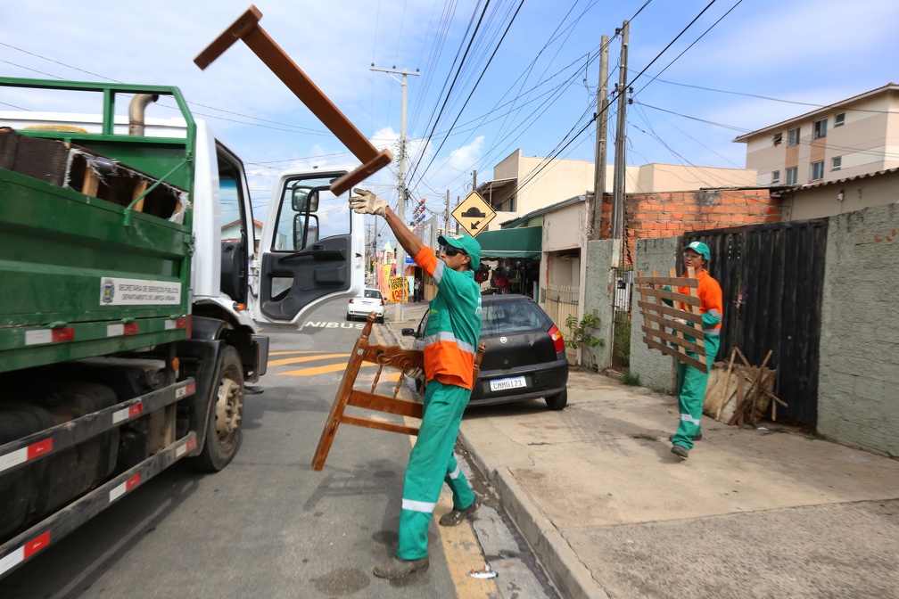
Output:
[[[192,383],[191,383],[192,384]],[[167,446],[161,452],[140,462],[134,468],[93,489],[85,497],[62,508],[24,533],[0,545],[0,578],[15,568],[60,541],[94,515],[99,514],[120,498],[152,479],[185,455],[197,445],[197,436],[191,431],[186,436]]]

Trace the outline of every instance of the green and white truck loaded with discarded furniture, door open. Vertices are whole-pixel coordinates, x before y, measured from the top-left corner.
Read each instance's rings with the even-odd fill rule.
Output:
[[[0,102],[40,107],[0,110],[3,577],[175,462],[224,468],[257,323],[358,294],[364,240],[343,171],[282,173],[254,220],[177,88],[0,78]]]

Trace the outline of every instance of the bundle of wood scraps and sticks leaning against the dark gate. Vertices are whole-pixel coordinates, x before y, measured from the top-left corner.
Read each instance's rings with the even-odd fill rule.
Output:
[[[734,348],[728,364],[717,362],[708,374],[703,412],[731,426],[755,427],[770,408],[771,419],[777,420],[778,404],[787,404],[773,393],[777,371],[766,366],[772,353],[768,352],[761,366],[752,366],[743,352]],[[736,356],[743,361],[742,365],[734,365]]]

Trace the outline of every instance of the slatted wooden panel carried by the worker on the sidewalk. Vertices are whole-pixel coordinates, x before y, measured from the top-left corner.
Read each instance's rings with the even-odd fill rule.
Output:
[[[643,313],[643,341],[648,348],[654,348],[663,354],[673,356],[678,361],[708,372],[706,366],[706,346],[702,337],[702,315],[699,314],[699,279],[693,269],[687,269],[687,277],[678,277],[677,270],[671,269],[668,277],[660,277],[658,269],[653,270],[652,277],[646,277],[643,270],[637,273],[635,290],[640,294],[637,306]],[[672,291],[665,291],[664,286]],[[690,294],[677,292],[678,287],[690,287]],[[672,303],[687,304],[689,311],[678,310],[663,304],[663,299]],[[695,307],[694,307],[695,306]],[[674,322],[675,318],[687,321],[687,324]],[[690,339],[686,339],[686,336]],[[698,358],[690,357],[687,351],[696,352]]]

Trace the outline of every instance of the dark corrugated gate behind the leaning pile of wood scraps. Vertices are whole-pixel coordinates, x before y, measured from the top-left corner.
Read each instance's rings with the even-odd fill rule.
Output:
[[[696,240],[708,243],[708,270],[724,293],[717,359],[729,358],[735,346],[759,366],[774,350],[768,364],[778,371],[774,392],[789,404],[778,408],[778,420],[814,430],[827,219],[684,235],[684,245]]]

